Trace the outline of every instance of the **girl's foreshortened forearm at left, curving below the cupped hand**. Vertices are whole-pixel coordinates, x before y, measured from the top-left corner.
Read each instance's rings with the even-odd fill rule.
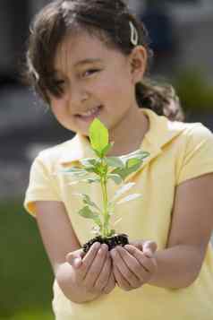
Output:
[[[57,269],[55,278],[66,298],[69,298],[72,302],[84,303],[98,298],[98,294],[89,293],[86,289],[82,289],[74,283],[70,264],[61,264]]]

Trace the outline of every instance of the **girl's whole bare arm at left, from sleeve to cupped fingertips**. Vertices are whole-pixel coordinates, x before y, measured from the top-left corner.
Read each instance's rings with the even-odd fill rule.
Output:
[[[107,250],[102,249],[100,252],[99,246],[93,246],[88,255],[83,257],[81,245],[72,229],[64,204],[45,201],[36,202],[35,205],[38,229],[53,267],[55,279],[64,295],[76,303],[98,298],[102,294],[98,287],[100,285],[98,281],[104,282],[106,293],[110,291],[109,287],[112,290],[113,281],[111,278],[108,281],[111,262]],[[75,263],[77,257],[80,261],[78,264]],[[104,275],[100,277],[99,273],[102,269]],[[87,278],[83,272],[88,272]],[[82,282],[81,276],[85,278],[85,282]],[[96,285],[97,282],[98,285]],[[91,290],[95,285],[96,290]]]

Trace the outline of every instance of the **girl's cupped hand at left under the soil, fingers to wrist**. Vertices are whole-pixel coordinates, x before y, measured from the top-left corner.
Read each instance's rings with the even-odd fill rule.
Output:
[[[72,265],[74,282],[82,290],[108,294],[115,288],[112,259],[105,244],[94,243],[86,255],[82,250],[74,251],[66,256],[66,261]]]

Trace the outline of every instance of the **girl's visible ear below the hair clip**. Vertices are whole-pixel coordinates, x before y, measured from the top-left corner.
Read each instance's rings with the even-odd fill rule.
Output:
[[[147,50],[142,46],[132,49],[129,56],[132,74],[132,83],[140,82],[147,68]]]

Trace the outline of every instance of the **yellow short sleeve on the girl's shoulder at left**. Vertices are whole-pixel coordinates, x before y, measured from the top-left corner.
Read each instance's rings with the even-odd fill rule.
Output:
[[[24,208],[35,216],[35,201],[61,201],[55,185],[54,174],[39,156],[30,169],[30,182],[24,199]]]

